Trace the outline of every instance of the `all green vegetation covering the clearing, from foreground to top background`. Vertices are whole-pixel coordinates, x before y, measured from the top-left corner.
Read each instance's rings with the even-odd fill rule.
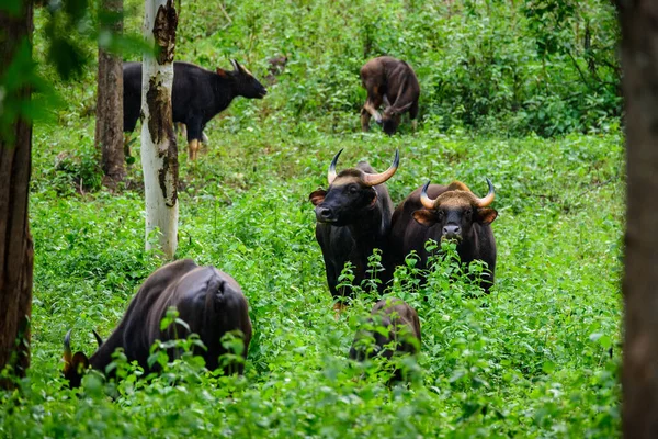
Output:
[[[109,336],[161,261],[144,251],[138,160],[124,189],[100,188],[93,119],[82,114],[93,103],[94,69],[75,85],[56,86],[65,103],[34,132],[32,368],[21,392],[0,395],[2,436],[616,435],[624,213],[616,106],[587,89],[579,89],[581,97],[600,99],[601,106],[563,101],[570,91],[556,92],[558,85],[582,85],[546,71],[559,65],[559,75],[579,74],[556,42],[543,60],[536,55],[532,27],[524,27],[531,16],[523,10],[512,10],[519,30],[502,26],[508,12],[498,2],[455,2],[450,19],[444,4],[422,3],[224,2],[227,15],[219,3],[208,13],[206,5],[201,13],[201,5],[182,3],[179,59],[209,68],[227,67],[228,57],[236,57],[264,76],[269,56],[294,55],[265,100],[236,101],[209,124],[211,142],[198,161],[181,154],[177,257],[214,264],[241,284],[254,328],[243,376],[208,373],[185,356],[164,364],[158,378],[139,380],[140,371],[120,354],[115,367],[123,381],[104,383],[90,374],[79,392],[66,387],[59,376],[66,331],[73,328],[75,350],[91,353],[91,329]],[[136,27],[138,7],[128,7],[136,11],[128,26]],[[366,21],[364,10],[376,10],[382,20]],[[604,19],[592,19],[592,29],[613,20],[597,15],[593,7],[587,12]],[[424,37],[429,34],[434,40]],[[502,93],[506,87],[451,61],[462,54],[487,71],[501,66],[498,55],[480,57],[477,42],[515,57],[521,72],[546,63],[540,81],[545,94],[532,81],[518,92],[536,99],[549,122],[533,125],[541,119],[530,104],[524,113],[511,101],[497,108],[490,95],[488,103],[478,101],[486,95],[478,88]],[[506,42],[515,49],[508,50]],[[37,53],[38,43],[37,34]],[[475,52],[465,55],[462,46],[455,48],[460,44]],[[418,59],[413,65],[427,94],[416,134],[359,132],[365,93],[358,69],[383,52]],[[464,75],[475,83],[467,87]],[[445,81],[462,82],[436,86]],[[464,95],[477,99],[465,104]],[[548,97],[557,106],[541,101]],[[488,109],[485,114],[476,111],[476,101]],[[509,111],[501,110],[506,105]],[[567,120],[574,123],[559,127]],[[399,148],[399,170],[387,183],[395,203],[427,179],[458,179],[480,195],[485,177],[496,184],[498,267],[490,295],[462,272],[450,247],[427,285],[412,281],[412,257],[396,275],[389,295],[415,306],[422,327],[418,360],[405,360],[407,385],[387,386],[389,372],[377,361],[348,360],[373,304],[367,283],[338,320],[332,312],[307,196],[326,185],[329,161],[341,148],[342,164],[366,159],[377,170]]]

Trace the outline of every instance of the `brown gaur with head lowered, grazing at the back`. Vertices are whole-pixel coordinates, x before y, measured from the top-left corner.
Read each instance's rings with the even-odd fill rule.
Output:
[[[370,130],[371,116],[382,124],[388,135],[395,134],[401,114],[409,112],[413,130],[418,116],[420,85],[411,66],[390,56],[371,59],[361,68],[361,83],[367,99],[361,110],[361,128]],[[385,104],[384,114],[377,111]]]

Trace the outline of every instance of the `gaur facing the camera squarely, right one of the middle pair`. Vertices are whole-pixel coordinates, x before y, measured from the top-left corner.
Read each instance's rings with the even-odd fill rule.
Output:
[[[490,224],[498,212],[488,206],[494,202],[494,184],[487,179],[489,192],[477,198],[466,184],[454,181],[450,185],[431,184],[411,192],[395,210],[390,228],[394,266],[404,264],[411,250],[420,257],[420,268],[427,268],[426,243],[434,239],[456,239],[457,254],[464,263],[483,260],[489,271],[483,274],[486,292],[494,284],[496,271],[496,241]]]

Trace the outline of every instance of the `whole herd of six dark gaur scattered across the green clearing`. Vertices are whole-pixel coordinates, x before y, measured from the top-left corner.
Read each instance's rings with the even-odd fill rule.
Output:
[[[277,65],[279,71],[287,58],[281,59],[284,60]],[[276,61],[280,63],[280,58]],[[207,122],[228,108],[236,97],[262,99],[268,92],[243,66],[235,60],[231,64],[234,70],[217,68],[209,71],[192,64],[174,63],[172,119],[186,127],[190,160],[198,156]],[[361,110],[363,131],[370,130],[370,121],[374,119],[385,133],[393,135],[404,113],[409,113],[416,130],[420,86],[407,63],[388,56],[374,58],[362,67],[361,80],[367,91],[367,100]],[[126,133],[135,130],[140,116],[140,100],[141,64],[125,63]],[[381,105],[384,105],[382,113]],[[394,209],[385,183],[398,169],[399,153],[395,151],[393,164],[384,172],[376,172],[363,161],[338,172],[341,153],[342,149],[329,166],[328,188],[309,194],[315,206],[316,238],[337,312],[344,306],[342,297],[351,294],[351,290],[339,286],[345,263],[352,267],[353,284],[361,284],[370,275],[368,257],[379,249],[384,270],[377,272],[381,281],[377,285],[382,293],[395,268],[404,264],[411,251],[419,256],[419,268],[428,268],[430,255],[426,243],[429,239],[455,240],[463,263],[486,262],[488,270],[483,274],[480,285],[489,291],[496,269],[496,243],[490,224],[498,215],[489,207],[495,198],[491,181],[486,180],[488,193],[484,198],[475,195],[460,181],[449,185],[428,181]],[[161,329],[160,322],[172,306],[186,326],[174,323]],[[377,326],[386,330],[375,329]],[[220,340],[228,333],[240,337],[245,349],[241,359],[220,363],[220,356],[226,353]],[[64,376],[75,387],[80,385],[89,368],[104,373],[117,348],[123,349],[128,361],[137,361],[145,371],[157,372],[157,365],[148,364],[154,342],[186,338],[190,334],[197,334],[205,346],[205,349],[196,348],[195,353],[205,359],[207,369],[222,367],[225,373],[242,372],[252,326],[240,285],[214,267],[198,267],[184,259],[161,267],[144,282],[105,341],[94,331],[99,348],[91,357],[72,353],[69,330],[64,341]],[[415,354],[420,348],[420,338],[417,312],[400,299],[387,297],[375,303],[368,323],[356,333],[349,356],[362,361],[374,356],[390,359],[394,351]],[[170,357],[177,353],[175,350],[169,352]],[[396,374],[401,376],[399,371]]]

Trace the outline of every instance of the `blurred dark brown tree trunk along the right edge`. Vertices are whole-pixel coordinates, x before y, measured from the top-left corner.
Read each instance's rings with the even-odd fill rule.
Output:
[[[620,1],[626,109],[622,425],[658,438],[658,2]]]

